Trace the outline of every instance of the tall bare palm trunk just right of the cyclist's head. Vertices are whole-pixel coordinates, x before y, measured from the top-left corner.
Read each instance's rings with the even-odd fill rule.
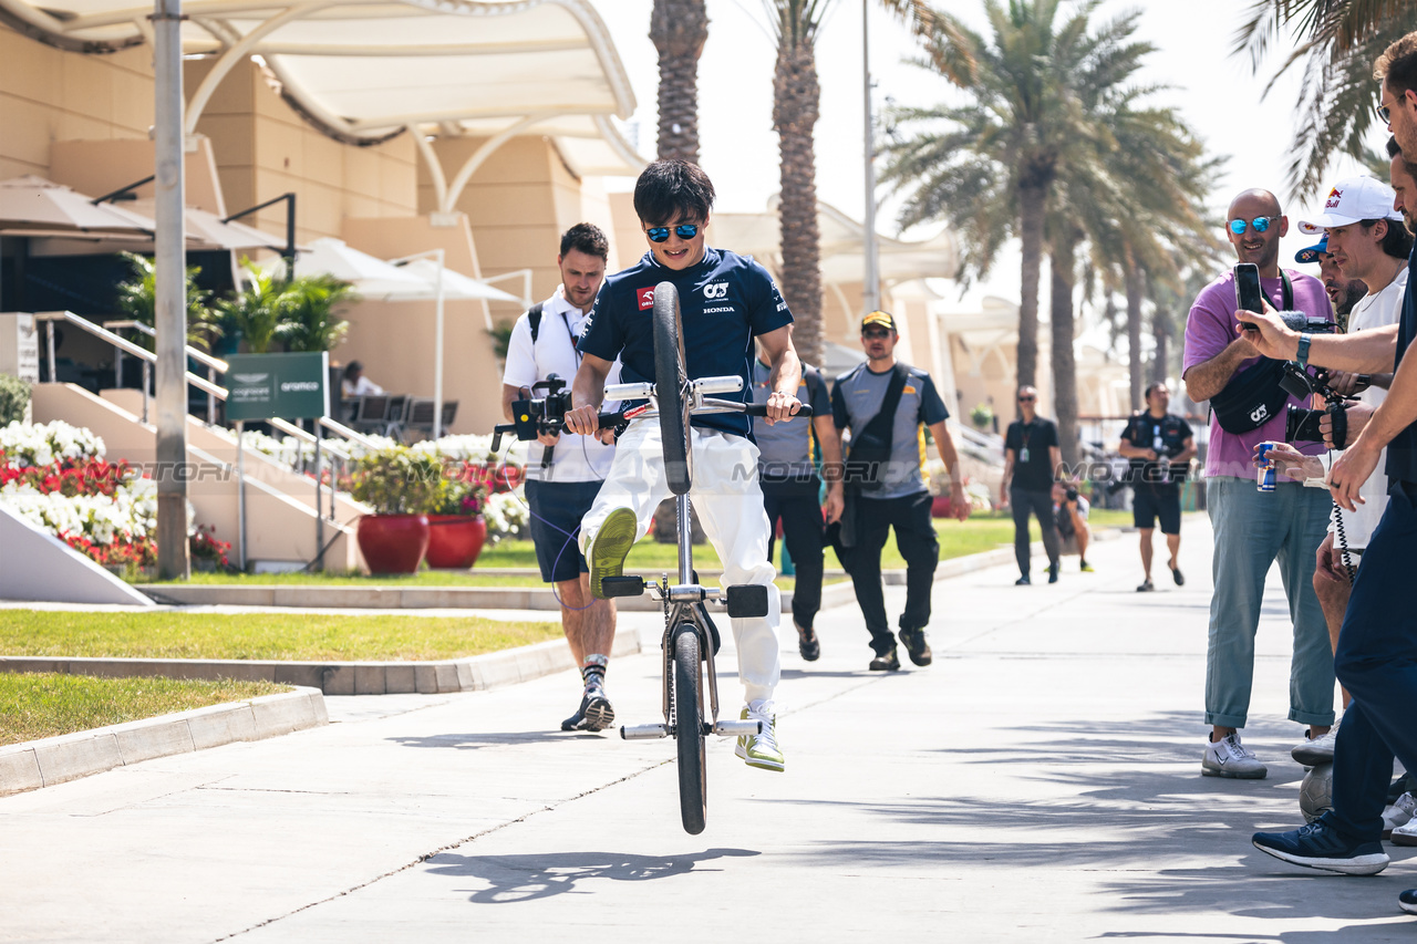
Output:
[[[778,45],[772,75],[772,128],[781,154],[778,203],[782,228],[781,289],[792,309],[792,343],[808,363],[820,364],[822,252],[816,225],[816,150],[812,132],[820,112],[816,37],[836,0],[764,0]],[[922,0],[881,0],[918,35],[937,28],[937,16]]]

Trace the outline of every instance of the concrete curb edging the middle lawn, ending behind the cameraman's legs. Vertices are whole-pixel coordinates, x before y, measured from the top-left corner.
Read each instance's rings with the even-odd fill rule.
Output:
[[[611,655],[636,655],[639,634],[615,634]],[[514,685],[571,668],[565,639],[446,662],[265,662],[247,659],[69,659],[0,656],[0,672],[60,672],[108,678],[265,680],[323,695],[439,695]],[[0,761],[3,763],[3,761]],[[3,775],[0,775],[3,777]]]

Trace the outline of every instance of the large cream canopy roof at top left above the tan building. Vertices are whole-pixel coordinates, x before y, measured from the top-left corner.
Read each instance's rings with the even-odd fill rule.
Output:
[[[142,43],[149,14],[136,0],[0,0],[0,20],[78,51]],[[183,14],[184,52],[261,57],[334,136],[524,130],[584,174],[643,164],[611,120],[635,96],[588,0],[187,0]]]

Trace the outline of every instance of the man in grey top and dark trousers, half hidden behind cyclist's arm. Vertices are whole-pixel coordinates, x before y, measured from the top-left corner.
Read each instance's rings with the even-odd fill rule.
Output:
[[[760,357],[752,363],[752,401],[767,403],[772,395],[772,370]],[[768,513],[768,560],[772,560],[772,534],[782,523],[796,583],[792,590],[792,625],[798,634],[798,652],[808,662],[822,655],[813,621],[822,608],[823,512],[826,522],[842,517],[842,437],[832,418],[832,398],[816,367],[802,364],[798,400],[812,408],[808,422],[774,422],[762,417],[752,421],[758,444],[758,485]],[[826,505],[822,505],[822,478],[816,471],[816,452],[829,471]]]

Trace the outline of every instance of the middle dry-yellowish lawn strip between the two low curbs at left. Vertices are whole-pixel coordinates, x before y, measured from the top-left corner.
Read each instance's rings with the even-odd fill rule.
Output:
[[[11,656],[421,662],[560,636],[550,619],[0,609],[0,653]]]

